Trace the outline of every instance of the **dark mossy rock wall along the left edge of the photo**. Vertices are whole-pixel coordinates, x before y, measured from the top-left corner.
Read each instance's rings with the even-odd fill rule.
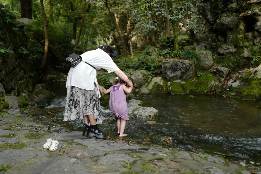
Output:
[[[15,22],[7,23],[2,16],[7,15],[3,5],[0,4],[0,49],[9,50],[0,52],[0,83],[5,93],[19,95],[24,89],[33,88],[33,77],[28,75],[31,67],[28,63],[29,54],[26,52],[26,35],[23,32],[23,25],[17,25]],[[3,95],[3,89],[1,91],[0,94]]]

